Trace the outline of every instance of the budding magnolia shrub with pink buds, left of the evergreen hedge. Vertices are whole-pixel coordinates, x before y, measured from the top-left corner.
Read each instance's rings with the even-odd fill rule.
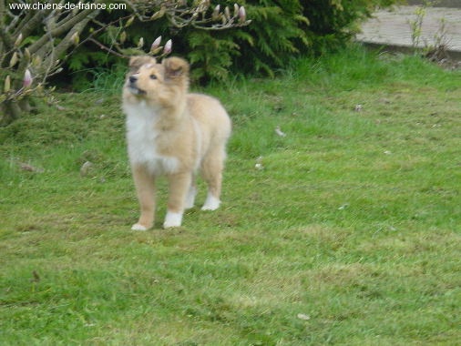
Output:
[[[20,3],[0,0],[1,126],[30,111],[30,98],[42,94],[49,79],[62,71],[67,55],[72,56],[67,68],[77,70],[84,66],[100,66],[112,55],[128,58],[133,54],[143,54],[141,49],[147,43],[144,39],[139,39],[134,48],[124,46],[128,36],[126,29],[135,18],[142,23],[143,33],[147,32],[148,25],[165,20],[169,28],[192,25],[216,30],[247,25],[244,9],[236,5],[234,15],[211,14],[210,0],[108,2],[112,6],[104,8],[106,2],[94,0],[94,4],[81,7],[74,4],[75,1],[34,6],[35,0]],[[124,5],[124,9],[115,14],[119,5]],[[83,42],[93,42],[96,48],[92,46],[88,49]],[[105,42],[108,46],[104,45]],[[80,50],[76,52],[75,47],[78,46]],[[170,44],[163,47],[157,45],[157,41],[156,46],[149,45],[149,48],[149,53],[156,56],[159,53],[166,56],[171,51]],[[81,80],[85,81],[85,76]]]

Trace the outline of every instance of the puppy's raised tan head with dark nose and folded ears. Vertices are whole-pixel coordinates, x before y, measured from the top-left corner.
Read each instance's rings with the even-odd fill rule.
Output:
[[[177,102],[189,87],[189,63],[179,57],[169,57],[161,64],[150,56],[133,56],[129,60],[129,71],[124,87],[125,97],[133,101],[145,99],[149,103],[162,105],[169,100]]]

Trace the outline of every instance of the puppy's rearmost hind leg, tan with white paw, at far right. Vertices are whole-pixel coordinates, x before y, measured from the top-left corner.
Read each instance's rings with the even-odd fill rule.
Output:
[[[220,207],[220,188],[225,157],[224,148],[219,147],[210,150],[203,158],[201,175],[208,185],[208,194],[202,210],[216,210]]]

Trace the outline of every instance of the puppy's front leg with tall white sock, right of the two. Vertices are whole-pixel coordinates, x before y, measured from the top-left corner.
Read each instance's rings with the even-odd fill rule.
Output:
[[[182,223],[182,214],[184,213],[184,202],[192,183],[191,174],[177,173],[168,176],[169,179],[169,199],[167,216],[163,227],[179,227]]]

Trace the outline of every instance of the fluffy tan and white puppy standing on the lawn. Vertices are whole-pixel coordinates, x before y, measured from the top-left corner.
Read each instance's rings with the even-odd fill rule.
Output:
[[[231,119],[216,98],[189,93],[189,64],[170,57],[158,64],[134,56],[123,88],[127,115],[128,157],[138,193],[140,217],[131,229],[152,227],[155,180],[169,181],[164,228],[179,227],[184,209],[192,208],[200,170],[208,185],[202,210],[220,206],[222,169]]]

